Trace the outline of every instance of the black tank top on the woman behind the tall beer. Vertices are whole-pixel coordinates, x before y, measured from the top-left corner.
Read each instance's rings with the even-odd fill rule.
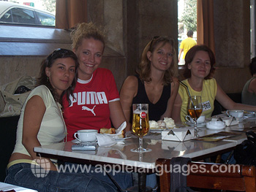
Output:
[[[141,82],[138,75],[135,75],[135,77],[138,78],[138,92],[133,98],[132,104],[148,104],[149,120],[160,120],[161,115],[164,114],[167,108],[168,99],[170,99],[170,84],[164,86],[159,101],[156,104],[152,104],[146,94],[144,83]]]

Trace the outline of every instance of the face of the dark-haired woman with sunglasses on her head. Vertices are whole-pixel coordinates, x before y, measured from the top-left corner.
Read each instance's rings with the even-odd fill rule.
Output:
[[[72,58],[57,58],[51,67],[46,67],[45,73],[49,77],[50,84],[61,93],[71,85],[75,77],[75,60]]]

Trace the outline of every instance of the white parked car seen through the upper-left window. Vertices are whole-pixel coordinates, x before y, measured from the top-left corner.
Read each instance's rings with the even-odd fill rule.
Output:
[[[31,6],[0,1],[0,24],[55,26],[55,15]]]

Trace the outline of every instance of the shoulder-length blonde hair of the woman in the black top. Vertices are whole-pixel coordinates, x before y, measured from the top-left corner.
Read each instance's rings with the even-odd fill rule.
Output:
[[[153,53],[159,43],[162,43],[162,46],[164,46],[166,43],[170,43],[170,45],[173,47],[173,61],[170,64],[170,68],[165,71],[163,79],[164,85],[167,85],[173,81],[172,77],[178,77],[178,62],[176,50],[173,46],[173,39],[170,39],[169,37],[156,37],[148,42],[143,50],[143,53],[141,54],[140,64],[138,64],[136,68],[136,73],[140,76],[140,80],[145,82],[151,82],[151,61],[148,60],[147,53],[148,51]]]

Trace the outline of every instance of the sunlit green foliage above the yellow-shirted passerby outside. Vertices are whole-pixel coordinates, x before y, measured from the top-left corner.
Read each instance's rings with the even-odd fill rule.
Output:
[[[197,0],[187,0],[181,20],[187,31],[197,31]]]

